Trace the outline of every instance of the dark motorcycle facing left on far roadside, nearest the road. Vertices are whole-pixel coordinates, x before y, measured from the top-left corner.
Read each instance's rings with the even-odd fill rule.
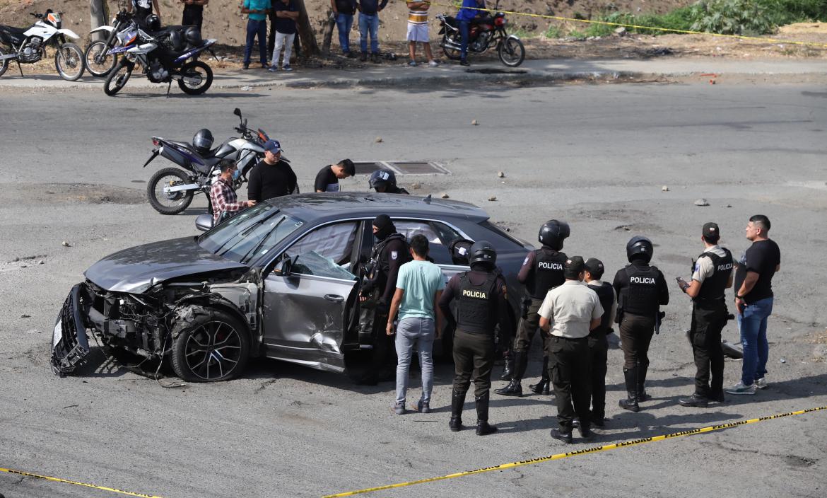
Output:
[[[160,28],[160,20],[154,14],[146,17],[144,31],[133,19],[131,27],[117,34],[120,46],[109,50],[110,54],[122,54],[123,58],[109,73],[103,92],[110,97],[126,86],[136,66],[152,83],[167,83],[170,96],[173,80],[184,93],[198,95],[213,84],[213,69],[198,60],[203,50],[215,44],[215,40],[202,40],[201,31],[195,26],[167,26]]]

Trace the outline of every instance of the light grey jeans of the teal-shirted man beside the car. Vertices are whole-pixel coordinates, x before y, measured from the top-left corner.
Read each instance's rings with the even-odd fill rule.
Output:
[[[404,406],[408,391],[408,371],[411,353],[417,348],[419,369],[422,371],[422,401],[431,402],[433,390],[433,318],[403,318],[396,326],[396,403]]]

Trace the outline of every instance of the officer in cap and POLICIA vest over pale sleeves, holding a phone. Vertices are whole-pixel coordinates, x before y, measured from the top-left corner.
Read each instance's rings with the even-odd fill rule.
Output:
[[[678,277],[684,294],[692,299],[692,324],[689,340],[695,357],[695,392],[677,400],[683,406],[705,408],[710,401],[724,401],[724,351],[721,330],[729,316],[724,291],[732,287],[732,253],[718,245],[717,223],[706,223],[701,229],[704,251],[692,268],[692,282]],[[710,366],[712,382],[710,385]]]

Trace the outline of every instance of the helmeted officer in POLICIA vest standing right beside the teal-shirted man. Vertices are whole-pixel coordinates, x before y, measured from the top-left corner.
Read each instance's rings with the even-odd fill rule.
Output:
[[[505,299],[505,279],[496,269],[497,253],[490,242],[477,241],[469,253],[470,271],[451,277],[439,308],[449,324],[455,328],[455,375],[451,396],[452,431],[462,429],[462,406],[466,392],[474,381],[476,399],[476,434],[494,433],[497,428],[488,424],[491,368],[494,366],[495,325],[506,337],[511,335],[508,304]],[[457,318],[451,311],[452,300],[457,300]]]

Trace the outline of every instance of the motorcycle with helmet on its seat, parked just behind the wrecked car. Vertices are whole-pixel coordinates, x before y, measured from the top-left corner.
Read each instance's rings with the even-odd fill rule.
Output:
[[[240,109],[236,108],[233,114],[238,116],[239,125],[235,130],[241,137],[231,136],[214,149],[205,149],[203,136],[198,134],[194,136],[192,144],[186,141],[166,140],[160,136],[152,137],[155,149],[144,163],[144,167],[146,168],[146,165],[157,156],[171,160],[179,166],[155,171],[146,184],[146,196],[156,211],[161,214],[180,213],[193,202],[195,194],[205,194],[209,199],[209,189],[220,173],[218,163],[223,159],[232,159],[236,162],[238,174],[232,181],[236,189],[247,181],[247,174],[252,167],[264,158],[264,142],[270,140],[270,137],[261,128],[248,128],[247,120],[241,117]],[[212,146],[212,134],[208,138],[208,143]],[[209,211],[212,213],[212,206]]]

